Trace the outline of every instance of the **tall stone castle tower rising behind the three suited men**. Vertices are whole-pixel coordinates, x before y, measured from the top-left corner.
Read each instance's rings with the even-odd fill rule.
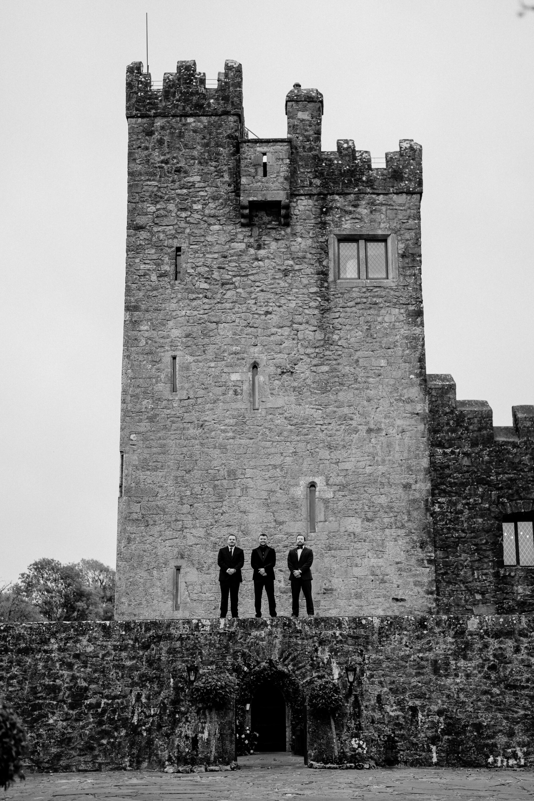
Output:
[[[298,83],[287,139],[251,139],[239,63],[216,88],[195,62],[159,90],[142,70],[126,74],[117,617],[216,617],[229,533],[246,554],[241,615],[259,533],[279,614],[298,533],[320,615],[432,612],[436,575],[458,598],[448,520],[434,564],[420,145],[401,140],[381,169],[351,139],[322,151],[323,96]],[[440,419],[443,397],[456,409],[447,381],[432,384]],[[452,607],[493,602],[479,590]]]

